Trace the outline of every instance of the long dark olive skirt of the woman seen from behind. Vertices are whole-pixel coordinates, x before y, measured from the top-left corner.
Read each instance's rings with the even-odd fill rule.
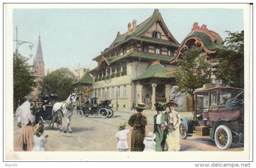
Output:
[[[144,133],[142,130],[132,130],[131,137],[131,151],[143,151],[145,145],[143,144]]]

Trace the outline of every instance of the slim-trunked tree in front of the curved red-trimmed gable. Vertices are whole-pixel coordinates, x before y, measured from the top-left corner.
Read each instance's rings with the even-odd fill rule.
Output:
[[[192,108],[194,111],[194,90],[206,83],[211,83],[211,66],[206,62],[205,54],[200,49],[192,48],[181,54],[177,60],[179,70],[175,72],[178,89],[185,94],[192,95]]]

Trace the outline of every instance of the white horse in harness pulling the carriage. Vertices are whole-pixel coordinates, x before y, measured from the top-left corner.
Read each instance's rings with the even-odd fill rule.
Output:
[[[64,133],[66,133],[66,129],[69,126],[69,133],[72,133],[71,127],[70,127],[70,120],[71,116],[73,114],[73,109],[76,106],[77,101],[76,93],[71,93],[69,97],[64,102],[57,102],[53,106],[52,115],[54,115],[55,118],[57,118],[57,115],[61,116],[60,118],[60,131],[62,131],[62,118],[63,115],[67,121],[67,126],[64,129]],[[57,113],[56,113],[57,112]],[[53,126],[52,126],[53,129]]]

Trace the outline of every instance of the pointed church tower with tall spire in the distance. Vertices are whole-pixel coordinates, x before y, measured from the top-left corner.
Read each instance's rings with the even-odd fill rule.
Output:
[[[35,79],[36,82],[42,81],[42,78],[44,77],[44,58],[43,58],[43,52],[42,52],[42,46],[41,46],[41,41],[40,41],[40,33],[39,33],[39,40],[38,40],[38,45],[37,45],[37,50],[36,50],[36,56],[34,58],[33,62],[33,68],[32,72],[35,72],[35,76],[38,76],[38,78]],[[31,96],[33,99],[40,98],[40,91],[39,91],[39,86],[34,89],[34,91],[31,93]]]

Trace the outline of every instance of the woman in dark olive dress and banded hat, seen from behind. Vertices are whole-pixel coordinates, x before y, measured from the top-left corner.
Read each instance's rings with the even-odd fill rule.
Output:
[[[137,110],[136,114],[133,114],[128,121],[128,124],[133,127],[132,136],[131,136],[131,151],[143,151],[145,145],[143,144],[143,140],[146,137],[146,125],[147,117],[142,115],[142,111],[145,110],[144,103],[138,103],[135,106]]]

